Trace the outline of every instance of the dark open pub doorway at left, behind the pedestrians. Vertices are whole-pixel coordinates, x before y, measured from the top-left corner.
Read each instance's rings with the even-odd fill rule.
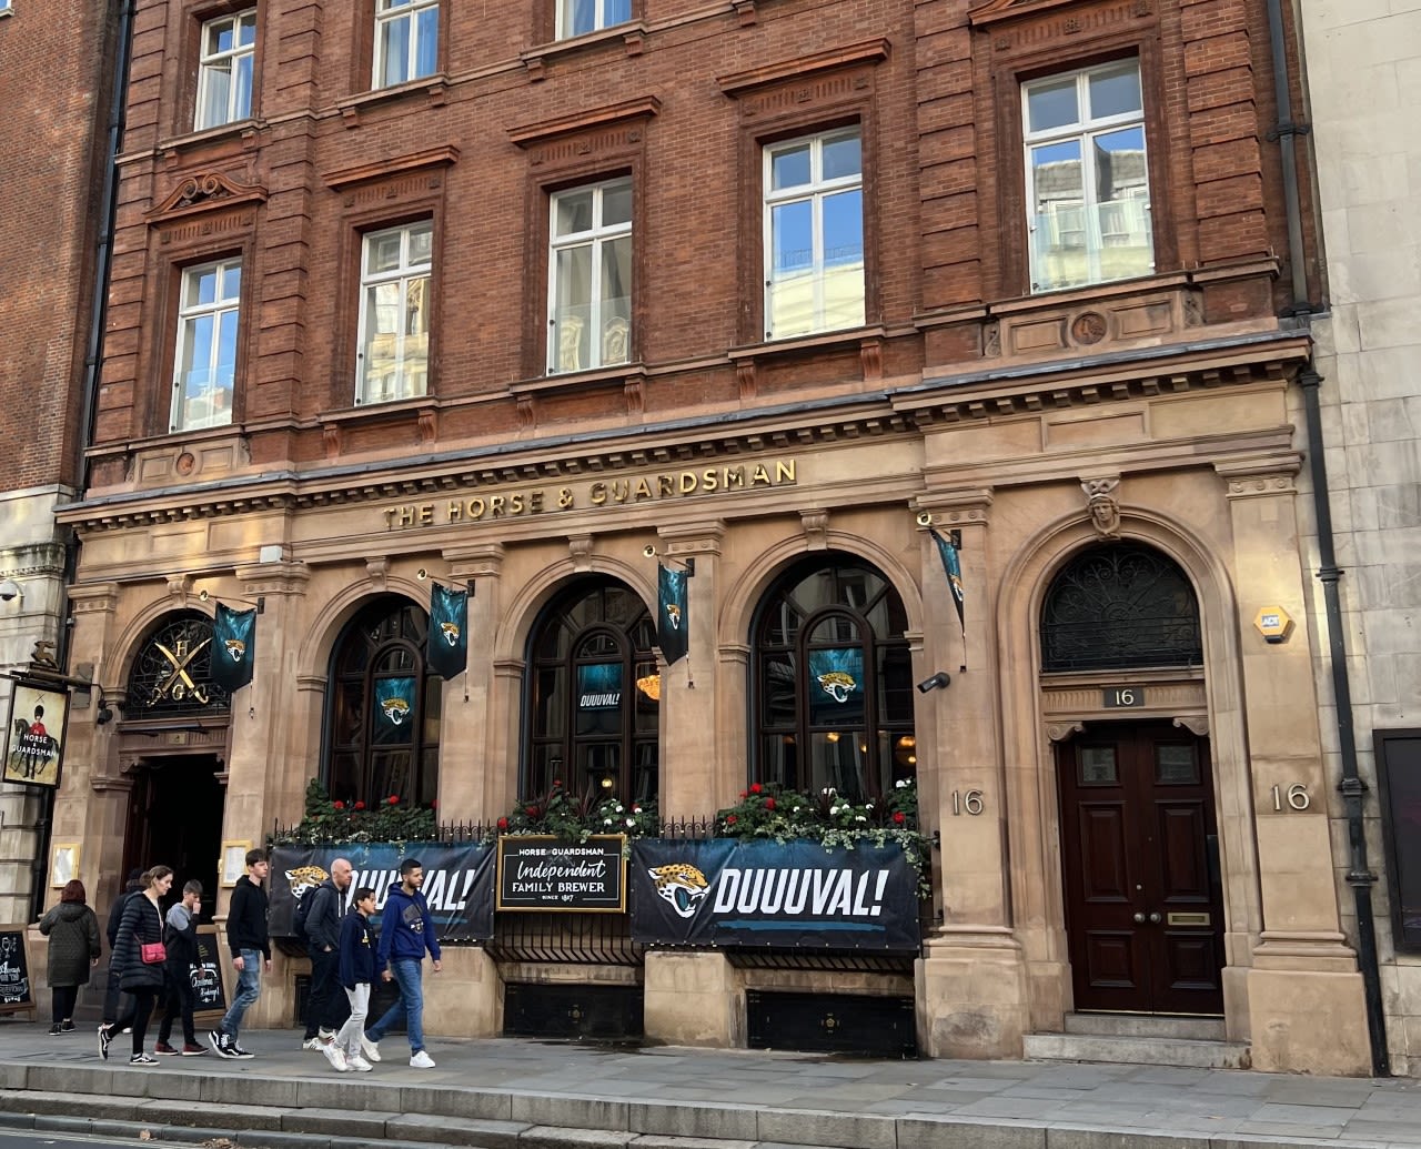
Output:
[[[152,865],[173,868],[172,900],[190,878],[202,882],[202,920],[212,920],[222,854],[226,788],[216,754],[141,758],[132,770],[124,873]]]

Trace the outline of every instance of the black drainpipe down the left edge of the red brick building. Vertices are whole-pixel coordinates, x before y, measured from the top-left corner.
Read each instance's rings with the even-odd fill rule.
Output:
[[[94,442],[98,412],[99,369],[104,365],[104,327],[108,322],[108,281],[114,267],[114,219],[118,205],[118,149],[124,141],[124,111],[128,104],[128,60],[132,51],[135,0],[118,0],[118,26],[114,30],[114,85],[109,92],[108,141],[104,148],[104,183],[99,190],[99,233],[94,249],[94,300],[90,307],[88,351],[84,356],[84,386],[80,392],[80,435],[75,443],[74,474],[80,493],[88,490],[88,447]],[[60,587],[60,633],[55,662],[70,673],[74,619],[70,616],[70,585],[78,572],[80,543],[71,537],[64,544],[64,581]],[[92,697],[92,692],[91,692]],[[44,812],[36,824],[40,846],[34,852],[30,881],[30,916],[44,913],[44,876],[50,864],[50,838],[54,829],[54,791],[44,793]]]

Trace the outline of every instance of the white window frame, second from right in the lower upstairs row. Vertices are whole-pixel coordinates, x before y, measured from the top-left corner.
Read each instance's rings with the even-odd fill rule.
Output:
[[[850,136],[857,136],[858,139],[858,173],[853,176],[837,176],[834,179],[824,179],[824,145],[838,139],[847,139]],[[774,190],[773,165],[774,156],[780,152],[794,151],[803,148],[806,143],[810,145],[810,180],[809,183],[796,183],[791,187],[784,187]],[[841,325],[830,324],[826,315],[826,237],[824,237],[824,200],[833,195],[841,195],[853,189],[858,190],[860,197],[860,212],[863,212],[864,199],[864,163],[863,163],[863,148],[864,148],[864,134],[863,125],[854,124],[845,128],[833,128],[824,132],[814,132],[811,135],[797,136],[796,139],[782,139],[774,143],[767,143],[760,149],[762,153],[762,183],[763,190],[763,227],[764,233],[762,237],[763,253],[764,253],[764,338],[766,339],[784,339],[794,338],[799,335],[810,335],[821,331],[837,331],[837,330],[851,330],[854,327],[863,327],[864,317],[863,312],[867,308],[867,261],[868,261],[868,236],[867,236],[867,220],[860,219],[860,234],[864,239],[864,268],[863,281],[860,284],[860,317],[857,322]],[[813,224],[811,224],[811,283],[813,283],[813,318],[807,330],[796,331],[776,331],[774,330],[774,209],[787,203],[794,203],[797,200],[810,200],[813,207]]]

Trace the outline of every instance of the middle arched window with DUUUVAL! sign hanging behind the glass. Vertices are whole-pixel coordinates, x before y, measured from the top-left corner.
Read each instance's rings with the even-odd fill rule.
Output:
[[[611,578],[549,604],[529,646],[523,795],[657,797],[661,677],[647,604]]]

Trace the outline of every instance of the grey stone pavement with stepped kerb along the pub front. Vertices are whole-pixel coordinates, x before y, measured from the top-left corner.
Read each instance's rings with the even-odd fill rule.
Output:
[[[1417,1146],[1421,1081],[782,1051],[431,1041],[337,1074],[297,1030],[256,1057],[98,1058],[91,1028],[0,1021],[0,1128],[263,1149],[1290,1149]],[[226,1142],[217,1140],[226,1138]]]

